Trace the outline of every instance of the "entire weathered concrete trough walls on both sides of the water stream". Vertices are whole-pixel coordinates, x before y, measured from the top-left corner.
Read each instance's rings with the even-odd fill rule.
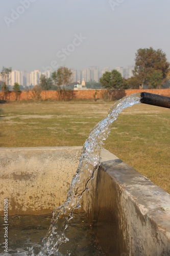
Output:
[[[44,215],[66,200],[82,147],[0,149],[0,215]],[[82,210],[105,255],[170,255],[170,195],[116,156],[102,162]]]

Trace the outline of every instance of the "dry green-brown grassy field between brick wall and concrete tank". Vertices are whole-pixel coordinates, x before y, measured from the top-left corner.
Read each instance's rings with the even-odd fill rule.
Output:
[[[113,102],[30,101],[0,105],[0,146],[82,146]],[[104,147],[170,194],[170,110],[136,104],[113,123]]]

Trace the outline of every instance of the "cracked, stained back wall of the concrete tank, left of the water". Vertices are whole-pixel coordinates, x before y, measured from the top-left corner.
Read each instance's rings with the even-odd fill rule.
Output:
[[[41,215],[66,200],[82,147],[0,149],[0,216],[4,199],[9,215]]]

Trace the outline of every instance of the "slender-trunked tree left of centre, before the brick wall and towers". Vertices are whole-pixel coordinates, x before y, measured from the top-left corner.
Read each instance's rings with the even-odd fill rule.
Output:
[[[52,73],[52,78],[59,91],[59,98],[61,97],[60,91],[62,89],[62,99],[64,96],[65,86],[71,82],[71,70],[66,67],[60,67],[57,71]]]

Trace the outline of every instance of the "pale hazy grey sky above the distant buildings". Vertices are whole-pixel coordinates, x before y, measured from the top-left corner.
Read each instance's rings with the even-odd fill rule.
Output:
[[[0,69],[134,65],[137,49],[170,61],[169,0],[0,0]]]

